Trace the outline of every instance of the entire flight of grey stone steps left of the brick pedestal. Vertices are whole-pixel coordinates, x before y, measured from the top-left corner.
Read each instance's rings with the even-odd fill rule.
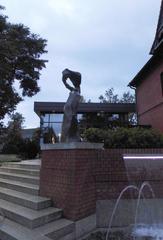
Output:
[[[39,161],[0,167],[0,240],[74,240],[75,223],[39,196]]]

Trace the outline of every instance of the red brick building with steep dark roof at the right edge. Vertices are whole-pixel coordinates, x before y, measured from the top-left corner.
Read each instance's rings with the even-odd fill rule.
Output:
[[[163,133],[163,0],[150,54],[129,86],[136,90],[138,124],[151,125]]]

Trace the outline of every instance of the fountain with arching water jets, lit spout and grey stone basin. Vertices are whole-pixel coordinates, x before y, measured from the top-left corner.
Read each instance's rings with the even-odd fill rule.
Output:
[[[163,155],[124,154],[114,166],[108,196],[97,203],[97,230],[86,240],[163,240]]]

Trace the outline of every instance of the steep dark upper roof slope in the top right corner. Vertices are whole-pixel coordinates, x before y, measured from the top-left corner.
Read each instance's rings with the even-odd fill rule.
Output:
[[[155,50],[158,52],[158,48],[160,48],[160,45],[163,45],[163,0],[161,0],[161,7],[160,7],[160,14],[156,29],[156,35],[155,39],[150,51],[150,54],[154,54]]]

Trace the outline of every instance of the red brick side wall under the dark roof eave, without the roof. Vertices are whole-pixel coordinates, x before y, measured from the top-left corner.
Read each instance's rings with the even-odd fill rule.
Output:
[[[163,61],[143,79],[136,89],[138,121],[163,132],[163,95],[160,74]]]

